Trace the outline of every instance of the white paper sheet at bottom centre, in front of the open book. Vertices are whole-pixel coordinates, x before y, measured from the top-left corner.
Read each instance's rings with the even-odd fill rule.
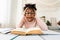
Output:
[[[15,38],[14,40],[43,40],[40,36],[19,36]]]

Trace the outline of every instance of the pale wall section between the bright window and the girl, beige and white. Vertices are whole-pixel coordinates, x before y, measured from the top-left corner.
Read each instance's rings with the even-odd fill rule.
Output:
[[[22,15],[22,0],[11,0],[10,27],[16,27]]]

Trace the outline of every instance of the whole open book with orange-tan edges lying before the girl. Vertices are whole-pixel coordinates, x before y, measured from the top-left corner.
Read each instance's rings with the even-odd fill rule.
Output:
[[[11,31],[12,34],[43,34],[40,28],[17,28]]]

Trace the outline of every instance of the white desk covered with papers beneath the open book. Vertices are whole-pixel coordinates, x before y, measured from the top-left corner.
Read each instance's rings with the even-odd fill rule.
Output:
[[[0,33],[0,40],[60,40],[60,33],[54,31],[44,31],[44,35],[14,35],[11,33]]]

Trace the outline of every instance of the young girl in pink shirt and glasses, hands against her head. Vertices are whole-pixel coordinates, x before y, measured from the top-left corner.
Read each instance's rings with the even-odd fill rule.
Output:
[[[36,10],[35,4],[26,4],[24,7],[24,17],[18,27],[22,28],[25,26],[25,28],[30,28],[38,26],[42,30],[48,30],[47,25],[40,18],[36,17]]]

